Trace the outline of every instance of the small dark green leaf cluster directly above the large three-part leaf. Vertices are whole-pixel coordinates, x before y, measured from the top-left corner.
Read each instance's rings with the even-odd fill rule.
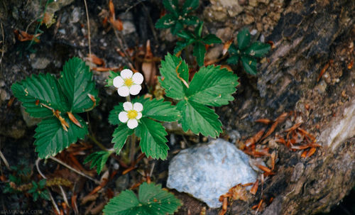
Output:
[[[205,45],[212,45],[217,43],[222,43],[222,40],[217,38],[214,34],[208,34],[202,37],[202,28],[203,22],[200,22],[195,31],[185,31],[182,30],[178,33],[178,36],[182,38],[182,40],[176,43],[174,53],[180,52],[180,50],[186,48],[188,45],[193,45],[193,55],[196,57],[198,65],[204,65],[204,54],[206,53]]]

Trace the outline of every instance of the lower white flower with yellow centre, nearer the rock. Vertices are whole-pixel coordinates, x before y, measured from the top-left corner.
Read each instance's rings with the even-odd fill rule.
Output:
[[[119,121],[127,123],[129,128],[133,129],[138,126],[138,119],[142,118],[143,104],[136,102],[132,104],[129,101],[124,103],[124,111],[119,113]]]

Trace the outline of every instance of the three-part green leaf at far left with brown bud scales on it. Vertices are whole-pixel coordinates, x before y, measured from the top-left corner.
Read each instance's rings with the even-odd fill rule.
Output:
[[[35,151],[47,158],[84,138],[87,125],[78,115],[90,111],[99,101],[92,72],[77,57],[68,60],[60,78],[32,75],[11,87],[30,116],[43,118],[35,129]]]

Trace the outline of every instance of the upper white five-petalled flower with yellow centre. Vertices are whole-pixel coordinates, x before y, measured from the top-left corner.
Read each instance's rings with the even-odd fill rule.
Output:
[[[128,97],[129,94],[138,94],[142,87],[143,75],[136,72],[133,74],[132,70],[122,70],[121,75],[114,78],[114,87],[118,88],[117,92],[121,97]]]

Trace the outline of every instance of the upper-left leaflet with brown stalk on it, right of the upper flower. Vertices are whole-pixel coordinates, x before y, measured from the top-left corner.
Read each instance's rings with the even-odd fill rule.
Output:
[[[184,98],[184,84],[178,78],[176,74],[176,68],[178,68],[178,74],[182,79],[188,82],[189,79],[189,67],[186,62],[181,59],[181,57],[176,57],[175,55],[165,56],[165,60],[161,61],[159,82],[161,86],[165,89],[165,94],[167,97],[173,99],[183,99]]]

